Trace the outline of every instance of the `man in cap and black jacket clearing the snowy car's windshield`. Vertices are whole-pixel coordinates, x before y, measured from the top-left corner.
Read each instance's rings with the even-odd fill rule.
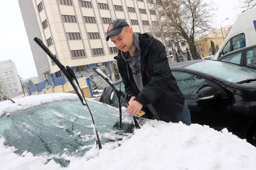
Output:
[[[135,116],[145,110],[146,118],[190,125],[190,112],[184,102],[166,56],[164,45],[148,34],[135,34],[123,19],[112,21],[107,38],[119,49],[117,66],[122,76],[129,106]]]

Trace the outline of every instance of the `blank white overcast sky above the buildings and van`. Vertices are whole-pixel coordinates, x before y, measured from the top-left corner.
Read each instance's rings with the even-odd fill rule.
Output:
[[[209,2],[211,3],[211,1]],[[238,0],[215,0],[218,10],[216,11],[216,22],[214,27],[231,25],[235,21],[236,16],[242,12],[241,9],[234,10],[238,6]],[[20,13],[17,0],[5,0],[0,5],[1,16],[1,55],[0,61],[13,60],[16,64],[18,74],[23,78],[37,76],[35,63]]]

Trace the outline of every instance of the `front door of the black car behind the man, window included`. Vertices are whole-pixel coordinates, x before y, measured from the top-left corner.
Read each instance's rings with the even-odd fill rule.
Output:
[[[193,75],[181,71],[172,71],[177,80],[177,84],[184,94],[185,101],[190,110],[191,122],[200,125],[209,125],[210,127],[221,130],[228,128],[234,131],[233,115],[228,98],[225,95],[224,88],[209,78]],[[213,83],[215,82],[215,83]],[[198,92],[204,87],[212,87],[222,92],[221,97],[200,100]]]

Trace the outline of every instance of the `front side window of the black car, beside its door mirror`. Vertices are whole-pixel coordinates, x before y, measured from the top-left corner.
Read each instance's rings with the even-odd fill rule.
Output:
[[[207,87],[208,84],[205,79],[197,77],[195,75],[172,72],[177,84],[184,95],[185,99],[196,99],[200,89]]]

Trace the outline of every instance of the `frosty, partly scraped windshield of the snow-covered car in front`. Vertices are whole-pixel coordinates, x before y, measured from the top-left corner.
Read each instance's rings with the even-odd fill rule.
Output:
[[[122,114],[120,130],[117,108],[95,101],[87,103],[101,144],[132,135],[134,125],[131,116]],[[83,156],[95,145],[96,136],[89,110],[79,99],[53,101],[7,113],[9,116],[4,114],[0,119],[0,137],[5,138],[6,146],[14,146],[17,154],[28,151],[67,166],[69,162],[61,158],[62,154]]]

